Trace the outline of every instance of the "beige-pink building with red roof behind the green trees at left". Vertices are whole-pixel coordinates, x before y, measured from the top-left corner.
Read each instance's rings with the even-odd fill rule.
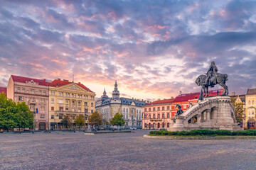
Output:
[[[33,79],[11,75],[7,86],[7,98],[14,102],[25,102],[35,116],[35,129],[49,129],[48,97],[46,79]]]

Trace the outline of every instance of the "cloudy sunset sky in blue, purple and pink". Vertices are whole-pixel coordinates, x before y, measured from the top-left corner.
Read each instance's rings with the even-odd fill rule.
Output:
[[[81,82],[96,97],[200,91],[215,61],[230,94],[256,87],[256,1],[0,1],[0,86],[11,74]],[[216,86],[215,89],[221,89]]]

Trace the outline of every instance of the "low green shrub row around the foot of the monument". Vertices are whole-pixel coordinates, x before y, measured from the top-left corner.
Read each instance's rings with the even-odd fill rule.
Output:
[[[176,131],[170,132],[166,130],[151,131],[150,135],[171,135],[171,136],[215,136],[215,135],[229,135],[229,136],[256,136],[256,130],[244,131],[230,131],[230,130],[191,130],[191,131]]]

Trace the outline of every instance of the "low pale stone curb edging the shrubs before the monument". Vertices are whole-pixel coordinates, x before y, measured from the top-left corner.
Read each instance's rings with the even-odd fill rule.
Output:
[[[144,138],[156,140],[256,140],[256,136],[225,136],[225,137],[170,137],[170,136],[149,136]]]

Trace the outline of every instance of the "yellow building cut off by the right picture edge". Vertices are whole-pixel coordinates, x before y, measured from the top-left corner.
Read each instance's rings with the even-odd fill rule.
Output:
[[[245,128],[255,128],[256,89],[247,90],[245,103]]]

